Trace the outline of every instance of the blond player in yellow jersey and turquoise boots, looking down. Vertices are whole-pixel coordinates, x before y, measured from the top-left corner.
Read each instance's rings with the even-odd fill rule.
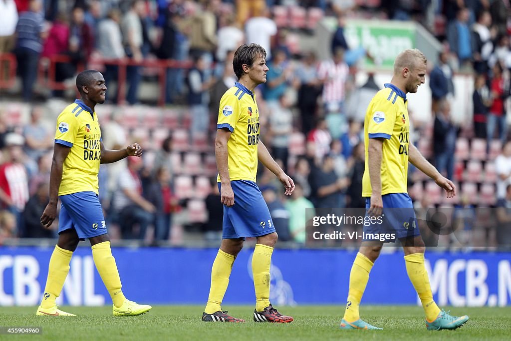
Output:
[[[410,119],[407,93],[416,93],[426,77],[426,57],[419,50],[405,50],[394,61],[390,83],[380,90],[367,107],[364,122],[365,171],[362,196],[366,197],[368,215],[385,217],[383,224],[364,225],[364,232],[394,232],[401,242],[408,277],[419,294],[429,330],[456,329],[468,316],[452,316],[440,310],[433,300],[428,274],[424,266],[424,241],[407,193],[408,162],[447,191],[456,195],[451,180],[440,174],[417,148],[409,143]],[[383,213],[383,214],[382,214]],[[350,289],[341,329],[382,329],[360,319],[362,300],[369,272],[380,255],[383,242],[363,240],[350,273]]]

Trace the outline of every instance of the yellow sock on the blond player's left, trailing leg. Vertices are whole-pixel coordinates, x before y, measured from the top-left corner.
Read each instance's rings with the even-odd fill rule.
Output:
[[[350,272],[350,289],[348,291],[348,299],[346,310],[344,310],[343,319],[347,322],[355,322],[360,319],[358,307],[362,300],[367,281],[369,280],[369,272],[373,268],[374,263],[369,258],[357,253],[357,257],[353,262]]]

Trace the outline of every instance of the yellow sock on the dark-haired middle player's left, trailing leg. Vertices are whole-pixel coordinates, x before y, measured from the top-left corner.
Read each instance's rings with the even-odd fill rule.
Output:
[[[230,271],[233,269],[235,259],[235,256],[218,250],[211,268],[210,295],[207,297],[206,309],[204,309],[206,314],[213,314],[222,310],[220,305],[229,285]]]

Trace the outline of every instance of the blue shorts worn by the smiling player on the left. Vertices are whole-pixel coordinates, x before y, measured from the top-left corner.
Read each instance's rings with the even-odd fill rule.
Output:
[[[84,240],[107,233],[103,209],[96,193],[78,192],[61,195],[59,198],[59,234],[75,229],[80,240]]]

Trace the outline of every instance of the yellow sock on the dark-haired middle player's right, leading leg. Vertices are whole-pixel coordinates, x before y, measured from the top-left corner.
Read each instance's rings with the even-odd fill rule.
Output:
[[[255,287],[255,310],[263,311],[270,305],[270,264],[273,247],[255,244],[252,256],[252,274]]]

